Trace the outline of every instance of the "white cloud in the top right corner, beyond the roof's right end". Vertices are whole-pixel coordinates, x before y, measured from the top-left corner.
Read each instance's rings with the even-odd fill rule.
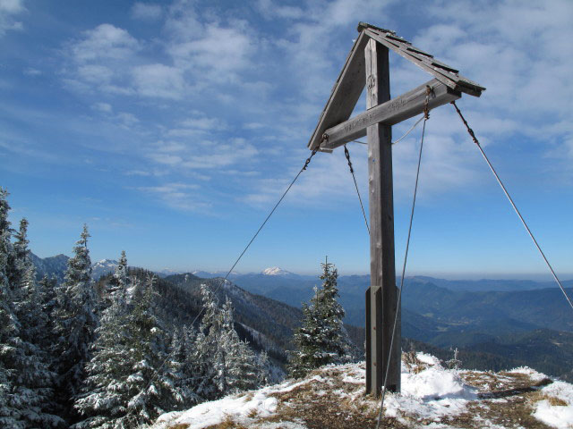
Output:
[[[475,128],[492,141],[526,136],[548,154],[569,153],[571,130],[553,124],[573,122],[573,3],[481,7],[464,0],[436,2],[428,12],[442,22],[420,31],[415,43],[487,87],[472,102]]]

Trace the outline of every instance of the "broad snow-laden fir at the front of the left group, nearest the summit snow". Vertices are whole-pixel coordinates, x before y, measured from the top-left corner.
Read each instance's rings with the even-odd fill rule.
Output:
[[[167,332],[153,311],[152,280],[133,289],[131,305],[125,283],[102,316],[88,378],[75,403],[84,419],[74,428],[139,427],[183,400],[168,360]]]

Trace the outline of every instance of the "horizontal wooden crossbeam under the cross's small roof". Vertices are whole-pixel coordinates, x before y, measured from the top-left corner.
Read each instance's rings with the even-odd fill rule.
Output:
[[[386,103],[376,105],[346,122],[339,123],[325,130],[322,135],[321,151],[331,152],[336,147],[340,147],[349,141],[364,137],[366,129],[375,123],[381,122],[384,125],[394,125],[417,114],[422,114],[427,87],[432,89],[428,100],[429,109],[445,105],[461,97],[459,91],[447,87],[438,80],[430,80],[400,97],[392,98]],[[314,147],[311,148],[313,149]]]

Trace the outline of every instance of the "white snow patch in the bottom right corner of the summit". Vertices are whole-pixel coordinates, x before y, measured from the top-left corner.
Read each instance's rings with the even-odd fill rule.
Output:
[[[573,385],[554,382],[541,391],[547,399],[536,403],[535,418],[558,429],[573,429]]]

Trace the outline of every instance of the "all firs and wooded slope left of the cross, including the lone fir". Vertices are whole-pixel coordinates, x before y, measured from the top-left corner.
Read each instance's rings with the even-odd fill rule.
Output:
[[[363,333],[342,323],[330,264],[303,311],[220,278],[161,279],[128,267],[125,252],[96,282],[86,225],[73,257],[41,260],[28,221],[11,228],[7,197],[0,188],[3,427],[137,427],[276,383],[289,360],[290,374],[304,375],[361,357],[353,339]],[[63,262],[61,274],[47,266]]]

